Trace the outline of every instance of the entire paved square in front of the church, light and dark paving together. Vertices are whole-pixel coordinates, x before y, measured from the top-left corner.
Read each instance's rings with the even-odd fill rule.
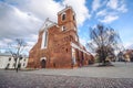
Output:
[[[133,88],[133,63],[114,63],[114,67],[0,70],[0,88]]]

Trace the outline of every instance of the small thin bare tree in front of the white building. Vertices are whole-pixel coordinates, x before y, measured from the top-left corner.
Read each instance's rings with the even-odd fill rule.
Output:
[[[24,47],[27,46],[27,43],[22,38],[16,38],[14,42],[9,43],[9,52],[11,53],[12,57],[14,58],[14,69],[19,68],[20,59],[22,59],[22,52],[24,51]]]

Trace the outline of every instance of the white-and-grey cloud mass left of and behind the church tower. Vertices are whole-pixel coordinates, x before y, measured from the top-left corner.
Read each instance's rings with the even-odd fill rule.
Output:
[[[75,4],[79,3],[79,6]],[[0,45],[6,38],[24,38],[30,47],[38,38],[38,32],[45,18],[57,22],[57,12],[62,10],[63,2],[71,4],[78,14],[78,23],[89,19],[85,0],[4,0],[0,1]]]

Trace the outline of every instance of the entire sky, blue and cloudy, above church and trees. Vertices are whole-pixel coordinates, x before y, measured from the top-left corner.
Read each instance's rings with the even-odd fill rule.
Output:
[[[66,4],[76,13],[82,44],[89,41],[89,28],[98,23],[115,29],[124,46],[133,44],[132,0],[0,0],[0,48],[20,37],[30,50],[44,20],[57,22],[57,12]]]

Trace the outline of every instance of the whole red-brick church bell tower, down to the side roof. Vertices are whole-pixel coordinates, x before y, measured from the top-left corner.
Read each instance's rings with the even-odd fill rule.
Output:
[[[79,42],[75,12],[72,7],[65,7],[65,9],[58,12],[58,25],[62,32],[70,32],[74,41]]]

